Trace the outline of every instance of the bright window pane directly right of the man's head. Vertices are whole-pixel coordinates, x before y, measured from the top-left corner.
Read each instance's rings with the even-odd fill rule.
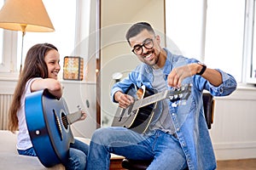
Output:
[[[201,0],[166,0],[166,46],[171,49],[173,45],[177,46],[172,53],[180,53],[200,60],[203,58],[202,2]]]

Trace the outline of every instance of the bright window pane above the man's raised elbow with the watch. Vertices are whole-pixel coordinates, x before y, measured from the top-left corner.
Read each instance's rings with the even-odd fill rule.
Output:
[[[206,57],[212,68],[241,82],[245,1],[207,1]]]

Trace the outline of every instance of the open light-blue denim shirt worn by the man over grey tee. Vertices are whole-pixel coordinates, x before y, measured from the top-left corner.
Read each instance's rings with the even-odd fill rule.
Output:
[[[163,70],[166,81],[168,74],[173,68],[198,62],[196,59],[188,59],[182,55],[171,54],[166,48],[164,49],[167,53],[166,64]],[[236,90],[235,78],[224,71],[218,71],[222,75],[222,84],[218,87],[214,87],[205,78],[198,75],[187,77],[183,80],[183,84],[189,83],[192,85],[192,88],[189,98],[185,101],[186,104],[173,106],[172,102],[169,102],[172,122],[190,170],[207,170],[217,167],[212,141],[204,117],[202,92],[205,89],[213,96],[226,96]],[[131,71],[128,77],[125,77],[121,82],[117,82],[113,85],[111,91],[113,102],[116,102],[113,98],[113,94],[117,91],[125,93],[131,84],[136,85],[138,88],[145,85],[147,88],[152,89],[153,80],[152,68],[144,63],[138,65],[134,71]],[[172,87],[168,88],[172,89]],[[154,114],[157,113],[160,114],[161,111],[154,111]]]

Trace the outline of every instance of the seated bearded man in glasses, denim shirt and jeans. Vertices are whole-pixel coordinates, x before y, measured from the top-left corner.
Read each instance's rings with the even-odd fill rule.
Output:
[[[160,47],[160,37],[145,22],[127,31],[132,52],[143,63],[112,88],[112,98],[127,108],[135,99],[126,94],[131,85],[161,92],[191,84],[186,103],[163,99],[145,133],[125,127],[97,129],[90,143],[87,169],[108,169],[110,153],[134,160],[153,160],[148,170],[215,169],[216,160],[202,105],[202,91],[225,96],[236,89],[234,77],[207,68],[196,59],[172,54]]]

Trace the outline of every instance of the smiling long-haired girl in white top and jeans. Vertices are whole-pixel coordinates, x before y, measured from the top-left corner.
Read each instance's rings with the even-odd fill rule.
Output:
[[[14,98],[9,109],[9,130],[15,133],[19,130],[17,150],[20,155],[37,156],[26,127],[25,97],[26,94],[47,88],[50,94],[61,98],[62,87],[57,81],[61,69],[60,54],[54,45],[39,43],[30,48],[26,54],[24,69],[20,74],[15,88]],[[80,120],[84,120],[86,114]],[[85,169],[89,146],[75,139],[70,144],[68,161],[63,163],[66,169]]]

